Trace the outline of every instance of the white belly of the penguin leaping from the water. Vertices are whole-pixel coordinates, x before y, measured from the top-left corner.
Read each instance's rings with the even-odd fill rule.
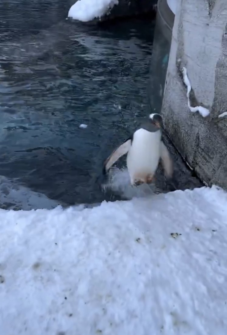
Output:
[[[161,132],[139,129],[134,133],[127,155],[127,167],[133,184],[135,180],[146,182],[153,177],[160,158]]]

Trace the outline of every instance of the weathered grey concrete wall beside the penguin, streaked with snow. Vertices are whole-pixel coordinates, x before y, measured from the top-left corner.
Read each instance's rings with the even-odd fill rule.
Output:
[[[180,69],[187,68],[194,106],[187,106]],[[207,184],[227,189],[227,1],[178,0],[162,114],[174,145]]]

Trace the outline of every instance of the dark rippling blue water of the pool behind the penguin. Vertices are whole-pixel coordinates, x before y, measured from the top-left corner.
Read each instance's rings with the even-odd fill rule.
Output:
[[[65,20],[69,3],[0,3],[5,202],[14,183],[67,205],[114,200],[97,182],[102,161],[150,112],[154,22],[85,25]],[[179,164],[185,188],[191,176]]]

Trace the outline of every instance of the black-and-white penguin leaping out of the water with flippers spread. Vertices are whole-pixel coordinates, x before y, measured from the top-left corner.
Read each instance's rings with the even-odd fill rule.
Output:
[[[132,136],[122,143],[104,161],[103,174],[123,155],[127,154],[127,167],[133,186],[153,181],[159,160],[165,176],[171,179],[173,163],[168,149],[162,142],[163,120],[160,114],[150,114]]]

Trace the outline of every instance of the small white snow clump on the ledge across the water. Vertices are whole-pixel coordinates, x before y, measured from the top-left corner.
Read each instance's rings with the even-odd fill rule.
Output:
[[[78,0],[69,10],[68,17],[83,22],[100,18],[109,9],[118,4],[118,0]]]

